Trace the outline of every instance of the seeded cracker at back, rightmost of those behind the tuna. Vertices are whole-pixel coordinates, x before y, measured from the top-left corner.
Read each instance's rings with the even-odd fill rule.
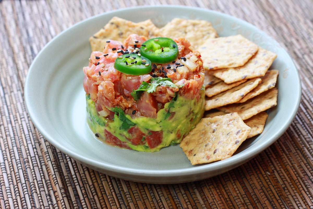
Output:
[[[218,34],[212,24],[205,20],[187,20],[174,18],[160,29],[164,37],[171,39],[185,37],[198,49],[206,39],[216,38]]]

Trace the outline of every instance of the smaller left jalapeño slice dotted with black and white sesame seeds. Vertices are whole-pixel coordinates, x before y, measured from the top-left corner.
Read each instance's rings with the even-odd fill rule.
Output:
[[[145,75],[151,71],[151,61],[137,54],[126,54],[116,58],[114,68],[129,75]]]

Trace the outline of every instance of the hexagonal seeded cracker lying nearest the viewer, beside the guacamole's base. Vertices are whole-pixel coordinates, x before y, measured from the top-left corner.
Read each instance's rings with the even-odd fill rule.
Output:
[[[250,130],[237,112],[202,118],[179,146],[192,165],[223,160],[233,155]]]

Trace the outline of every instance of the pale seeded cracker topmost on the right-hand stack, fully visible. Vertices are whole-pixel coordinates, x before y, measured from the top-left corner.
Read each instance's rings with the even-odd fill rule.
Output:
[[[199,48],[203,67],[216,70],[244,65],[259,47],[242,35],[206,40]]]

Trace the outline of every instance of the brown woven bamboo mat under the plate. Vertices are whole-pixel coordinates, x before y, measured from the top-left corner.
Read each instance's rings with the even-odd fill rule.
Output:
[[[30,64],[71,25],[150,1],[0,1],[0,208],[313,208],[313,1],[179,1],[244,19],[276,39],[302,80],[299,112],[268,149],[227,173],[153,185],[117,179],[60,152],[34,128],[23,101]]]

